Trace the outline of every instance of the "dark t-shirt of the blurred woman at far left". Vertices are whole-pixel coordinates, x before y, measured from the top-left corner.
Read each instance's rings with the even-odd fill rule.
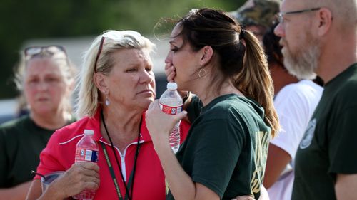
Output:
[[[0,188],[33,179],[31,170],[36,171],[39,154],[54,131],[37,126],[28,115],[0,125]]]

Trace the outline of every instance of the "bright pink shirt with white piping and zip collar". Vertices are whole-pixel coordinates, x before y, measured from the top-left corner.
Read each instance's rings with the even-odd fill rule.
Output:
[[[143,122],[141,124],[140,136],[140,152],[136,161],[136,172],[133,189],[133,200],[139,199],[165,199],[165,178],[164,171],[161,168],[159,157],[157,156],[154,145],[151,141],[149,131],[146,128],[145,112],[143,114]],[[185,140],[190,125],[181,122],[181,141]],[[40,174],[48,174],[54,171],[66,171],[72,164],[74,164],[74,155],[76,151],[76,144],[84,135],[85,129],[94,130],[94,140],[106,145],[106,151],[109,154],[109,159],[113,165],[116,179],[119,182],[121,195],[126,194],[124,184],[121,181],[119,168],[117,167],[114,153],[111,150],[110,143],[102,137],[100,131],[100,112],[97,111],[94,117],[84,117],[78,122],[63,127],[54,132],[51,136],[46,148],[40,154],[40,164],[37,167],[37,172]],[[99,199],[118,199],[114,182],[109,172],[108,164],[104,157],[104,152],[99,144],[99,174],[101,183],[99,189],[96,191],[95,200]],[[134,167],[134,156],[136,152],[137,139],[126,147],[124,152],[119,152],[116,149],[116,154],[121,164],[121,170],[126,177],[126,182],[129,181],[131,170]],[[34,179],[40,179],[39,176]]]

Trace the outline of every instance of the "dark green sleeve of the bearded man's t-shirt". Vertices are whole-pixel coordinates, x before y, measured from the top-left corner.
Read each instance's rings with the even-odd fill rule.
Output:
[[[357,173],[357,105],[347,107],[339,112],[334,118],[333,132],[329,134],[328,157],[330,168],[328,172],[336,174],[356,174]]]

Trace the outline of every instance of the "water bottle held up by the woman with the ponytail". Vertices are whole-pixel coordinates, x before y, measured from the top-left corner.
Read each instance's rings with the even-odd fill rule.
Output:
[[[167,83],[167,89],[160,97],[160,108],[169,115],[176,115],[182,111],[182,98],[177,92],[176,83]],[[180,122],[175,125],[169,135],[171,149],[175,154],[180,147]]]

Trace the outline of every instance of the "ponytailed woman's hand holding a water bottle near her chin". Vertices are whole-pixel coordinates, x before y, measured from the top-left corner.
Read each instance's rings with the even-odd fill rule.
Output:
[[[186,115],[186,111],[180,112],[177,115],[166,114],[161,111],[159,100],[151,102],[146,112],[145,120],[156,151],[159,147],[169,147],[169,133],[176,123],[186,117]]]

